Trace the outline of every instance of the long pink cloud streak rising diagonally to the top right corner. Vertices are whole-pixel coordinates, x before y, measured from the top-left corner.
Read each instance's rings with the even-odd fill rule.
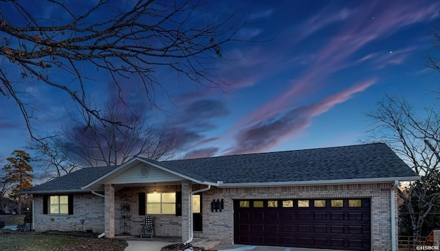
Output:
[[[428,6],[426,8],[418,3],[413,5],[376,6],[377,3],[366,1],[358,9],[350,12],[347,10],[347,14],[340,14],[341,18],[347,18],[347,24],[342,27],[339,35],[334,36],[328,43],[322,44],[321,49],[318,49],[316,53],[316,58],[311,62],[311,67],[309,67],[305,74],[292,81],[290,88],[283,95],[254,110],[250,115],[236,123],[231,130],[235,131],[245,125],[270,119],[275,114],[283,112],[286,108],[295,106],[295,104],[298,104],[298,100],[303,100],[304,97],[311,95],[318,88],[322,89],[329,75],[349,67],[351,57],[364,45],[378,38],[390,36],[399,31],[399,29],[413,23],[427,21],[432,16],[429,14],[435,12],[435,6]],[[389,8],[393,8],[393,11],[389,11]],[[377,10],[381,11],[377,12]],[[321,12],[319,15],[322,16],[324,14],[324,12]],[[329,12],[328,14],[333,13]],[[327,16],[322,16],[322,19],[328,22],[336,20]],[[305,25],[313,23],[313,20],[318,20],[318,17],[313,17],[306,21]],[[325,23],[322,23],[318,26],[323,27],[324,25]],[[395,58],[388,63],[399,64],[401,60],[404,60],[404,58]]]

